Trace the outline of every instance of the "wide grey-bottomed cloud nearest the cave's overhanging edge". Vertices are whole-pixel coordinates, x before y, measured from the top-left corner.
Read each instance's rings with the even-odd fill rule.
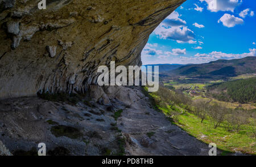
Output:
[[[195,38],[195,33],[187,27],[165,27],[163,24],[160,24],[158,28],[154,31],[155,35],[159,36],[162,39],[176,40],[177,42],[188,42]]]

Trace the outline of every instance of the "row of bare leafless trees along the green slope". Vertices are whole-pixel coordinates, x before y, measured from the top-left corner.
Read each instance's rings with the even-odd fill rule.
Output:
[[[177,119],[178,115],[182,114],[176,110],[177,105],[196,115],[201,119],[201,123],[205,119],[209,119],[214,129],[222,125],[229,132],[239,132],[243,125],[250,123],[250,117],[256,119],[255,112],[251,114],[251,112],[243,109],[226,108],[224,104],[212,102],[212,100],[198,99],[192,101],[191,97],[184,93],[171,91],[165,87],[159,87],[155,95],[155,104],[160,108],[169,109],[167,113],[169,117]],[[256,135],[256,127],[254,131]]]

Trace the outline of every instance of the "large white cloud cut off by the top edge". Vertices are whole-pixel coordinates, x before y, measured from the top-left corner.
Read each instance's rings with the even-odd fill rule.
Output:
[[[201,2],[207,2],[207,9],[212,12],[217,11],[232,11],[234,8],[242,3],[242,0],[200,0]]]

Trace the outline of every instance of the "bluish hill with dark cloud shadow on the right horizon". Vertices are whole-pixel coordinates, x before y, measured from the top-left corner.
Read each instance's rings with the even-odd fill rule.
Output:
[[[256,73],[256,57],[245,57],[241,59],[224,60],[185,65],[176,69],[165,71],[163,75],[168,76],[191,76],[200,78],[230,77],[241,74]]]

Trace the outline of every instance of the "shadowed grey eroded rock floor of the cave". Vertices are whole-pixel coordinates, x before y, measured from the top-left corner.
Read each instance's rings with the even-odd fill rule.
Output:
[[[102,96],[76,105],[38,97],[2,100],[0,140],[14,155],[34,155],[42,142],[48,155],[208,155],[208,145],[152,109],[141,88],[101,91],[96,94],[105,93],[108,105]]]

